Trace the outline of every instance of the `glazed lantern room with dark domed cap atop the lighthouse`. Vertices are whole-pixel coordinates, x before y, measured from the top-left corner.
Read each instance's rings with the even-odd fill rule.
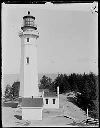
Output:
[[[30,12],[28,11],[28,15],[23,17],[23,27],[21,27],[23,31],[26,29],[37,29],[37,26],[35,24],[35,17],[30,15]]]

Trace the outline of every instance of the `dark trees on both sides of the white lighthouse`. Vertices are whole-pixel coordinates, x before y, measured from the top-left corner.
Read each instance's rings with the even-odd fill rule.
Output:
[[[43,75],[40,79],[39,89],[49,89],[50,91],[57,91],[59,86],[59,93],[66,94],[67,92],[79,92],[75,103],[86,110],[88,107],[91,111],[98,110],[99,101],[99,87],[98,75],[90,72],[89,74],[58,74],[52,80],[50,77]],[[14,82],[12,86],[7,85],[5,89],[5,99],[14,100],[19,97],[20,82]]]

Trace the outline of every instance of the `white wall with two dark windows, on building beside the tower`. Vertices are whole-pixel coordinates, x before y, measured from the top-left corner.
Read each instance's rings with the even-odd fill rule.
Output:
[[[46,104],[46,99],[48,99],[48,104]],[[55,99],[55,104],[53,104],[53,99]],[[43,108],[59,108],[59,98],[58,97],[47,97],[43,98]]]

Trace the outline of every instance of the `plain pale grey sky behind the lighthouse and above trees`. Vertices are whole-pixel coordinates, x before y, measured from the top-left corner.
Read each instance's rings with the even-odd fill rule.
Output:
[[[2,71],[20,72],[23,16],[36,18],[38,73],[98,73],[98,15],[90,4],[2,4]]]

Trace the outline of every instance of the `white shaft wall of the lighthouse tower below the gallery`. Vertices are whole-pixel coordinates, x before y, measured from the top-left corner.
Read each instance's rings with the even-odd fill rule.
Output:
[[[20,96],[37,97],[39,94],[37,71],[37,41],[36,37],[33,36],[33,31],[31,33],[28,31],[27,34],[23,32],[21,35]],[[28,37],[29,42],[27,42]],[[29,57],[29,64],[26,63],[26,57]]]

